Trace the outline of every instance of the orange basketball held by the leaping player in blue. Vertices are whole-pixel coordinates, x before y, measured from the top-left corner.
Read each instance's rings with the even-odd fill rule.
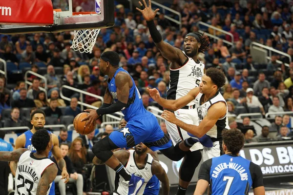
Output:
[[[87,134],[90,134],[92,133],[94,130],[95,130],[95,126],[93,126],[92,124],[89,124],[87,125],[85,128],[85,123],[86,121],[83,121],[81,122],[81,120],[83,118],[85,118],[89,113],[80,113],[78,114],[75,118],[74,118],[74,121],[73,121],[73,126],[74,126],[74,129],[79,133],[79,134],[82,134],[82,135],[87,135]],[[89,127],[89,128],[88,128]]]

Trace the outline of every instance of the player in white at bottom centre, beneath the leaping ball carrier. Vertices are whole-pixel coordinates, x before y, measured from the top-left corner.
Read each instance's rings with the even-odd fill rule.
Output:
[[[140,143],[134,147],[134,150],[119,150],[114,153],[118,160],[125,165],[126,170],[143,178],[144,184],[133,195],[143,195],[148,180],[153,176],[157,176],[162,182],[163,195],[169,195],[169,180],[167,174],[161,164],[154,160],[153,157],[147,153],[149,148],[145,144]],[[93,159],[96,165],[104,164],[96,156]],[[115,191],[114,195],[127,195],[128,186],[125,180],[119,174],[115,178]]]

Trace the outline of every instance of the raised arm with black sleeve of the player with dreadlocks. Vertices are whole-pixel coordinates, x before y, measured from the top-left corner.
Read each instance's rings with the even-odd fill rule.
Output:
[[[169,43],[164,42],[162,40],[162,36],[160,32],[157,30],[155,23],[154,23],[154,18],[157,14],[157,12],[160,9],[156,9],[154,12],[151,9],[151,1],[148,1],[148,6],[146,5],[146,1],[143,0],[144,5],[139,1],[139,4],[142,6],[142,9],[136,8],[140,13],[142,13],[144,19],[146,20],[149,33],[151,38],[153,39],[155,45],[158,47],[160,50],[161,54],[163,55],[164,58],[170,60],[171,62],[176,62],[178,64],[182,64],[180,59],[183,59],[182,61],[185,61],[187,57],[182,53],[182,51],[178,48],[175,48],[171,46]]]

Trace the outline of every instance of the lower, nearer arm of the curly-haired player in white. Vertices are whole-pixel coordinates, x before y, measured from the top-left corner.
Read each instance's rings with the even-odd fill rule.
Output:
[[[215,103],[209,108],[207,116],[204,117],[198,126],[190,125],[177,119],[174,113],[167,110],[164,110],[161,116],[167,121],[178,125],[188,133],[196,137],[203,137],[216,124],[219,118],[222,118],[226,115],[226,112],[227,107],[224,102]]]

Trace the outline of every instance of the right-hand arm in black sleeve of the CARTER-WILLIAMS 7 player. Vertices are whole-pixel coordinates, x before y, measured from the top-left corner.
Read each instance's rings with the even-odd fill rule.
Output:
[[[254,195],[265,195],[265,187],[263,184],[263,175],[258,165],[250,163],[249,171],[251,173],[252,188]]]

